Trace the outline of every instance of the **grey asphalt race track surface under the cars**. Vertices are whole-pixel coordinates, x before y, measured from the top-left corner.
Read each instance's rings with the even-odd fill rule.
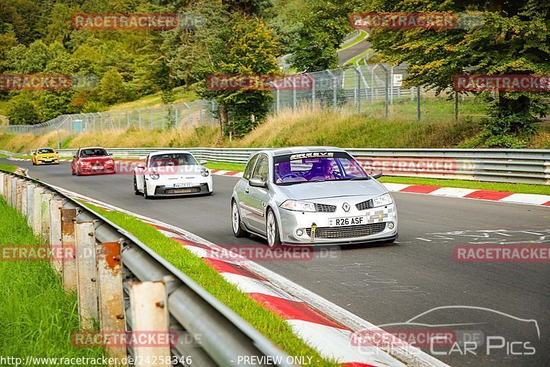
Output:
[[[213,196],[144,200],[133,194],[132,176],[76,177],[67,163],[42,167],[10,163],[28,168],[30,176],[43,182],[174,224],[217,244],[265,242],[232,235],[230,195],[238,178],[214,176]],[[261,264],[373,324],[401,323],[386,326],[389,330],[410,328],[402,323],[439,306],[489,308],[492,311],[441,308],[416,319],[426,325],[415,328],[468,324],[460,330],[483,333],[484,344],[475,349],[476,355],[463,355],[463,347],[434,348],[444,353],[437,358],[453,366],[547,366],[549,262],[457,262],[454,247],[549,245],[550,208],[412,193],[393,193],[393,197],[400,235],[395,244],[324,249],[310,260]],[[487,337],[495,337],[492,346],[502,347],[487,353]],[[533,355],[513,355],[532,353],[530,347],[536,349]],[[430,353],[429,346],[422,349]]]

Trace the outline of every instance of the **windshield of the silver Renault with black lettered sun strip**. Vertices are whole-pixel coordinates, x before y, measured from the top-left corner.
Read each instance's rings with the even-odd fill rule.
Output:
[[[273,171],[277,185],[370,178],[359,162],[343,151],[276,156]]]

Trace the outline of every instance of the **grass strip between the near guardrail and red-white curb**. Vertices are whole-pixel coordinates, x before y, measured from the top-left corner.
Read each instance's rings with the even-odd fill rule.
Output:
[[[307,346],[302,339],[294,335],[284,319],[267,311],[261,304],[239,291],[236,286],[226,282],[201,258],[197,258],[190,251],[181,247],[178,242],[166,238],[153,226],[123,213],[105,211],[85,203],[83,205],[90,207],[148,244],[153,251],[186,273],[289,355],[313,357],[311,360],[313,366],[338,366],[333,361],[322,359],[316,350]]]

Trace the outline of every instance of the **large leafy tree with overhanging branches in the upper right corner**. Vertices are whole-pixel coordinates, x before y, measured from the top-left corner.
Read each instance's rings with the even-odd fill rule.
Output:
[[[481,27],[452,30],[373,30],[373,47],[384,61],[409,63],[405,85],[452,87],[457,74],[549,74],[550,8],[545,1],[375,0],[371,12],[477,11]],[[485,145],[525,146],[535,131],[547,92],[482,94],[492,103],[482,138]]]

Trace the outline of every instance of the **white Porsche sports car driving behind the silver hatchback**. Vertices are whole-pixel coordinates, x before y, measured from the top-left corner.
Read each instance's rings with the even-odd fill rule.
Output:
[[[133,192],[154,196],[212,195],[212,173],[189,151],[155,151],[133,169]]]

